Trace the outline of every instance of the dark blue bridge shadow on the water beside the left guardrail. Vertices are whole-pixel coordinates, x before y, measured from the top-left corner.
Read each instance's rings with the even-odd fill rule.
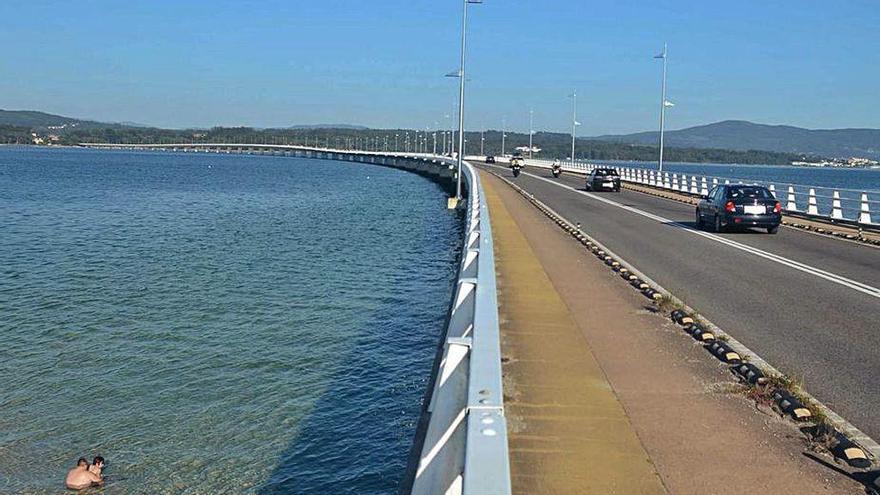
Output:
[[[452,291],[409,314],[405,300],[379,305],[258,494],[399,490]],[[416,346],[424,352],[413,356]]]

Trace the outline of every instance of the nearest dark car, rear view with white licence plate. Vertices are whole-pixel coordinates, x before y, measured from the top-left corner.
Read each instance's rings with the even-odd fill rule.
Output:
[[[697,205],[697,228],[722,232],[732,227],[758,227],[770,234],[779,230],[782,204],[764,186],[715,186]]]

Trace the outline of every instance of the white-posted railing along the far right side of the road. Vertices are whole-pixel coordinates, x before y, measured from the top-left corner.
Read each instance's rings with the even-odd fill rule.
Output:
[[[479,160],[482,157],[469,157]],[[503,158],[496,159],[503,162]],[[550,168],[553,160],[530,158],[525,160],[527,166]],[[737,179],[711,176],[697,176],[664,172],[652,169],[636,167],[618,167],[615,165],[595,164],[581,160],[566,160],[559,162],[562,169],[568,172],[589,174],[595,168],[613,168],[620,173],[621,181],[633,184],[643,184],[659,189],[680,192],[689,196],[701,196],[708,194],[708,186],[711,181],[712,187],[719,183],[731,184],[758,184],[768,187],[776,195],[777,185],[787,188],[786,200],[781,201],[783,210],[790,214],[804,218],[814,218],[822,221],[832,221],[854,227],[863,227],[871,230],[880,229],[880,223],[872,221],[870,215],[871,205],[880,208],[880,199],[870,199],[870,191],[847,188],[830,188],[824,186],[790,184],[782,182],[757,181],[752,179]],[[876,193],[880,195],[880,193]],[[777,196],[778,197],[778,196]],[[876,196],[875,196],[876,197]],[[807,204],[807,210],[799,210],[797,203]],[[867,214],[866,214],[867,212]]]

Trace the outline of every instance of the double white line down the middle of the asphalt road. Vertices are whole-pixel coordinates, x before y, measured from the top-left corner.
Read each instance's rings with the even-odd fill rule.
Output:
[[[503,167],[498,167],[498,168],[503,168]],[[690,232],[692,234],[696,234],[696,235],[705,237],[706,239],[711,239],[711,240],[718,242],[720,244],[730,246],[734,249],[738,249],[740,251],[745,251],[749,254],[753,254],[755,256],[759,256],[761,258],[764,258],[764,259],[767,259],[770,261],[775,261],[776,263],[779,263],[781,265],[785,265],[790,268],[794,268],[795,270],[799,270],[801,272],[808,273],[810,275],[828,280],[829,282],[834,282],[834,283],[842,285],[844,287],[849,287],[850,289],[853,289],[853,290],[859,291],[863,294],[867,294],[869,296],[876,297],[876,298],[880,299],[880,288],[873,287],[868,284],[863,284],[863,283],[858,282],[856,280],[852,280],[852,279],[843,277],[841,275],[837,275],[835,273],[827,272],[825,270],[816,268],[814,266],[810,266],[810,265],[801,263],[799,261],[795,261],[795,260],[792,260],[789,258],[785,258],[783,256],[779,256],[778,254],[769,253],[767,251],[764,251],[764,250],[761,250],[761,249],[758,249],[758,248],[755,248],[752,246],[748,246],[746,244],[741,244],[739,242],[732,241],[730,239],[725,239],[724,237],[721,237],[721,236],[718,236],[715,234],[711,234],[709,232],[703,232],[702,230],[697,230],[697,229],[690,227],[688,225],[684,225],[684,224],[676,222],[674,220],[669,220],[668,218],[661,217],[660,215],[655,215],[653,213],[650,213],[650,212],[647,212],[644,210],[640,210],[640,209],[632,207],[632,206],[627,206],[627,205],[618,203],[617,201],[612,201],[608,198],[603,198],[603,197],[597,196],[593,193],[581,191],[581,190],[575,189],[574,187],[571,187],[569,185],[561,184],[557,181],[550,180],[545,177],[539,177],[537,175],[533,175],[533,174],[530,174],[527,172],[521,172],[521,173],[523,175],[528,175],[529,177],[539,179],[544,182],[553,184],[554,186],[562,187],[564,189],[569,189],[569,190],[574,191],[578,194],[582,194],[588,198],[592,198],[597,201],[601,201],[603,203],[606,203],[606,204],[609,204],[612,206],[616,206],[616,207],[621,208],[623,210],[627,210],[627,211],[635,213],[637,215],[641,215],[643,217],[650,218],[652,220],[655,220],[655,221],[663,223],[663,224],[671,225],[673,227],[685,230],[685,231]]]

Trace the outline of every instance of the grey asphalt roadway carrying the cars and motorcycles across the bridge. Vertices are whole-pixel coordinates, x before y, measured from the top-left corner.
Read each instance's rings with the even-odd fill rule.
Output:
[[[515,181],[880,440],[880,249],[780,228],[693,229],[694,207],[529,167]],[[584,304],[589,304],[584,301]]]

